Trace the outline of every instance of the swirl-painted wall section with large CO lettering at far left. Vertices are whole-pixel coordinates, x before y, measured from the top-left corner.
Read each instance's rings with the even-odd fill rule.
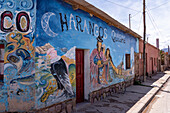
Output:
[[[35,105],[35,0],[0,0],[0,40],[7,43],[1,111],[28,111]]]

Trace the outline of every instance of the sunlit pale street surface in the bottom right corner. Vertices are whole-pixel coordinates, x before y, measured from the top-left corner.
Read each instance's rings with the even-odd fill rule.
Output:
[[[170,113],[170,79],[155,95],[143,113]]]

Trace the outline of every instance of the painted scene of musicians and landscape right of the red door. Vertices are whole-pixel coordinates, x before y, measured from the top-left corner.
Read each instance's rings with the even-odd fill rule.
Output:
[[[93,49],[90,55],[90,82],[91,90],[96,90],[118,82],[126,81],[134,76],[133,63],[131,69],[124,69],[124,56],[120,59],[120,64],[116,67],[110,49],[105,49],[105,44],[102,44],[101,37],[97,37],[97,48]],[[131,56],[134,56],[133,47],[131,48]],[[134,57],[131,58],[134,60]]]

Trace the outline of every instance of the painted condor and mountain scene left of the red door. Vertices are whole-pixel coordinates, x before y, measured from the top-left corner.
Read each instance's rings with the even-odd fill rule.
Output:
[[[44,102],[51,104],[74,97],[75,59],[71,57],[74,50],[75,47],[59,56],[49,43],[36,47],[37,107]]]

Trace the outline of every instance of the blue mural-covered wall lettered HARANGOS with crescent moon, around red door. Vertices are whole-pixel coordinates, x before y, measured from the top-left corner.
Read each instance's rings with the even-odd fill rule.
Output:
[[[134,77],[136,43],[133,36],[62,1],[37,0],[36,106],[75,97],[75,48],[90,50],[89,88],[94,91]],[[125,54],[131,55],[128,70]]]

